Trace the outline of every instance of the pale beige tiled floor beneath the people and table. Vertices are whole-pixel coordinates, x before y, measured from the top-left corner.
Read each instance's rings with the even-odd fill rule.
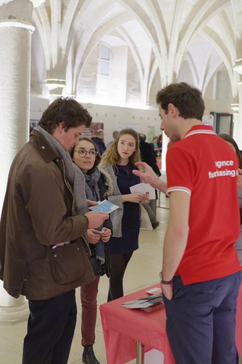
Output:
[[[156,230],[141,230],[139,245],[140,248],[134,252],[124,277],[125,294],[135,292],[141,288],[158,283],[158,274],[161,271],[162,245],[166,225],[168,222],[169,198],[161,194],[160,205],[164,208],[157,208],[157,219],[160,225]],[[98,306],[106,302],[108,294],[108,278],[101,277],[98,286]],[[79,289],[76,290],[77,298],[77,325],[72,342],[68,364],[82,364],[81,354],[81,305],[79,299]],[[23,340],[27,331],[27,323],[16,325],[0,325],[0,363],[1,364],[21,364]],[[96,324],[96,342],[94,351],[101,364],[106,364],[106,353],[104,339],[102,336],[101,318],[98,309]],[[135,360],[131,361],[135,363]],[[32,363],[34,364],[34,363]]]

